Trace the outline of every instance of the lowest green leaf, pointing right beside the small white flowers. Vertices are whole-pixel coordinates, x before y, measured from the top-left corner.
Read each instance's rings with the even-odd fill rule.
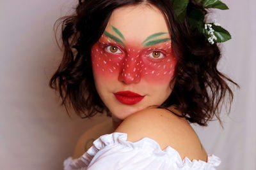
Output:
[[[230,33],[226,29],[223,29],[223,27],[212,24],[212,29],[214,29],[213,34],[217,38],[217,43],[222,43],[231,39]]]

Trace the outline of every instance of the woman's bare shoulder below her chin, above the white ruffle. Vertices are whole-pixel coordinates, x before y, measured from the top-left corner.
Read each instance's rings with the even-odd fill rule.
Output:
[[[188,121],[164,109],[150,108],[134,113],[125,118],[115,132],[127,133],[127,140],[132,142],[145,137],[154,139],[162,150],[167,146],[177,150],[182,159],[207,161],[207,153]]]

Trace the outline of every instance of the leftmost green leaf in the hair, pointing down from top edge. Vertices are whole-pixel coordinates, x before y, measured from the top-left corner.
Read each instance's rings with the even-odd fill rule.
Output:
[[[180,22],[184,22],[189,0],[174,0],[173,11],[179,18]]]

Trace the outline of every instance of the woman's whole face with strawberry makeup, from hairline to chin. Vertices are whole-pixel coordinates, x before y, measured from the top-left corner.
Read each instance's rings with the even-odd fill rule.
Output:
[[[124,120],[170,96],[175,64],[164,16],[140,4],[113,11],[92,47],[95,86],[113,116]]]

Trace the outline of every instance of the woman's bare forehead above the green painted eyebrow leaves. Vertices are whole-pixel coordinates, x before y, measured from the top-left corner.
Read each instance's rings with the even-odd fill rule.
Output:
[[[170,38],[163,13],[149,4],[117,8],[109,18],[105,31],[115,34],[113,27],[122,33],[125,41],[142,43],[148,36],[158,32],[166,32],[161,38]]]

